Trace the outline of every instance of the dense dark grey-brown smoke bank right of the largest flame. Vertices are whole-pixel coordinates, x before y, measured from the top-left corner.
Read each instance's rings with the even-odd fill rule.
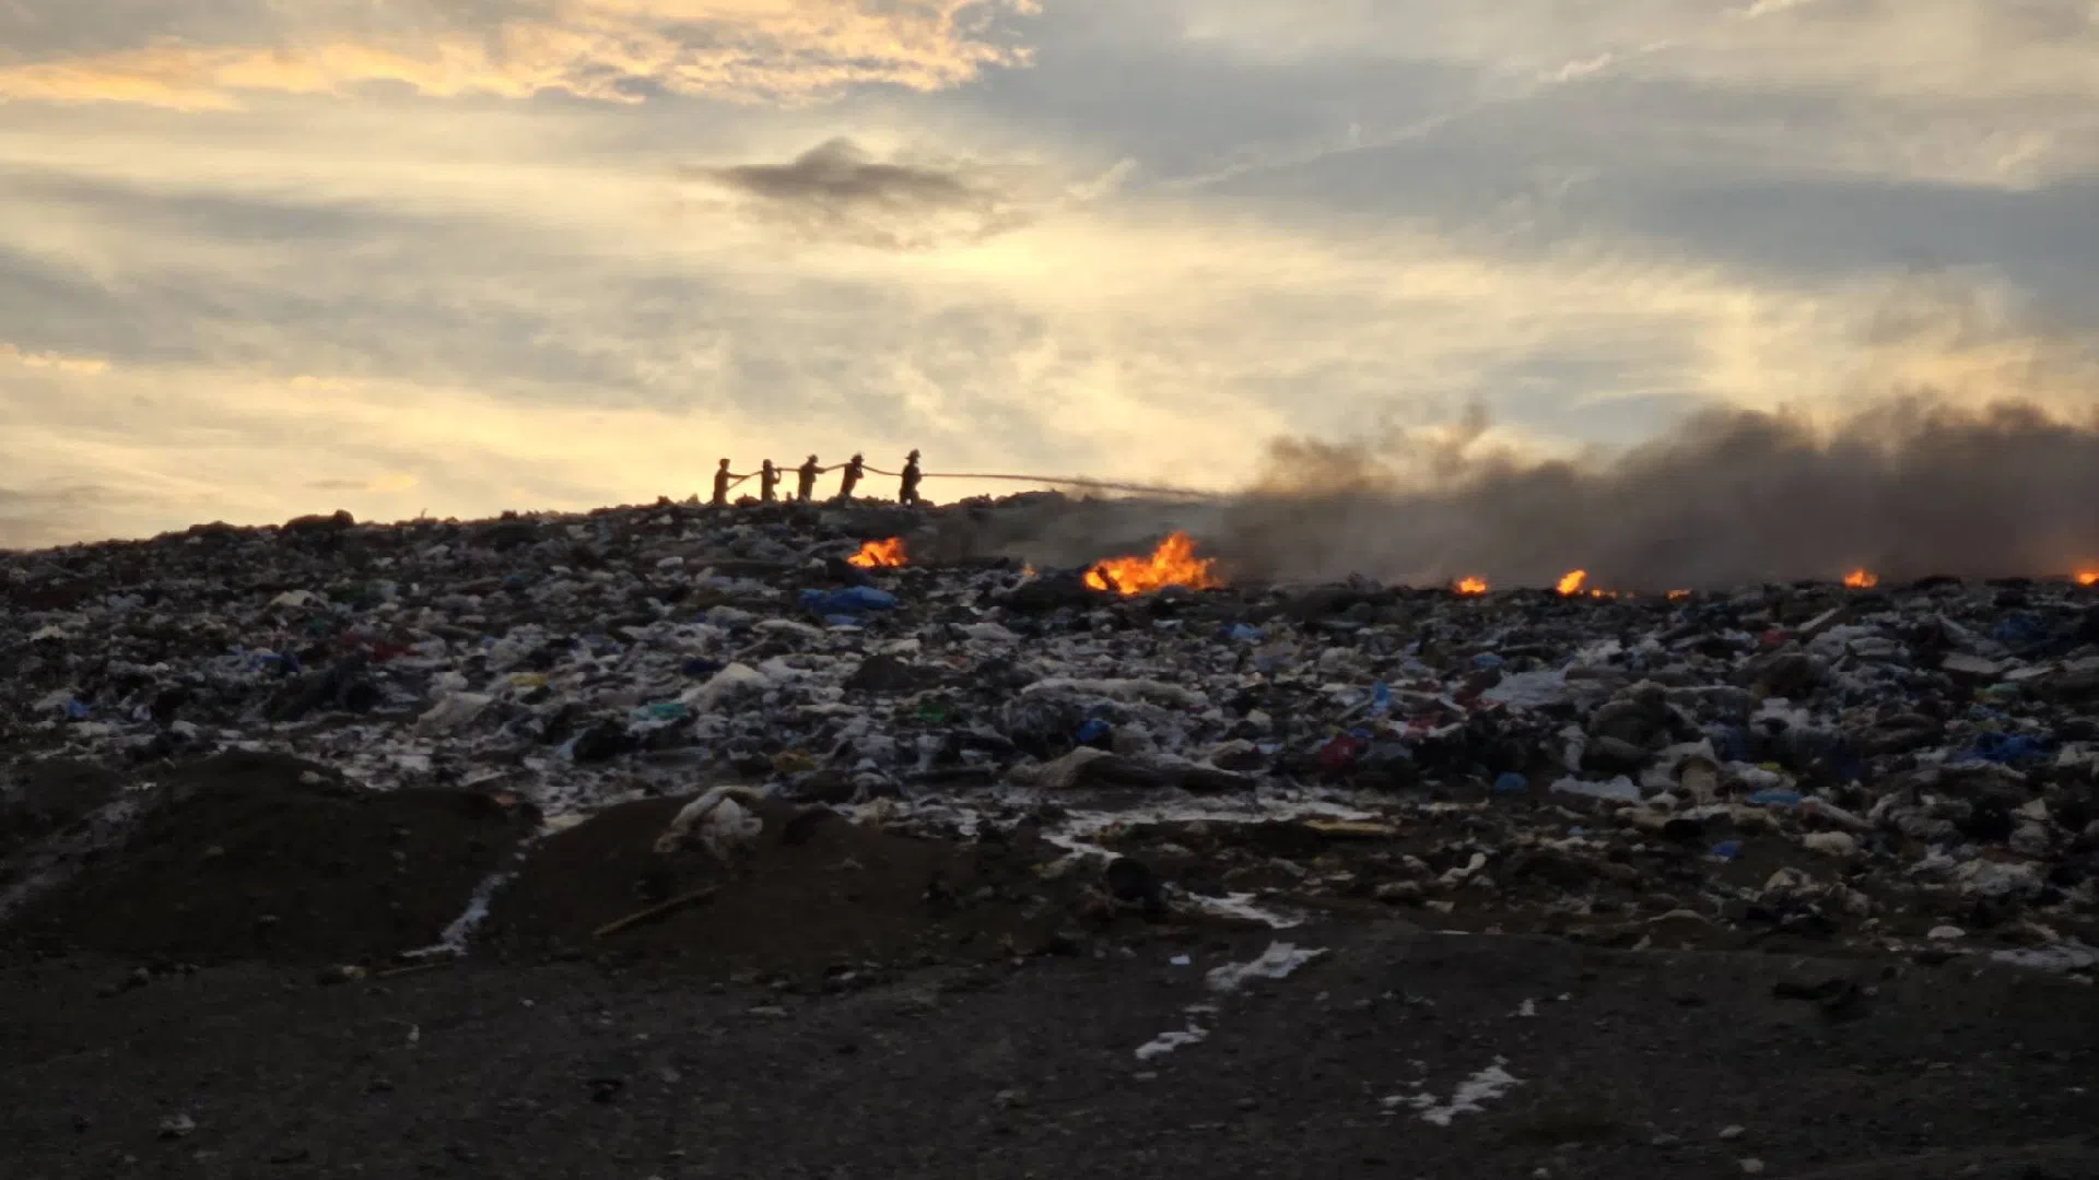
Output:
[[[1411,454],[1285,439],[1213,548],[1238,577],[1665,590],[2068,573],[2099,559],[2099,416],[1902,397],[1822,424],[1713,409],[1614,458]],[[1301,472],[1322,472],[1306,489]]]

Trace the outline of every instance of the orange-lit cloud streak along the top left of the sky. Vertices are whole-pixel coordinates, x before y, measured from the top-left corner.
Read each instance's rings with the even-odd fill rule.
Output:
[[[804,103],[846,86],[959,86],[1026,50],[987,40],[987,8],[1033,0],[569,0],[550,19],[399,40],[304,36],[279,44],[155,42],[0,69],[0,101],[239,107],[243,92],[340,94],[395,82],[430,97],[525,99],[565,90],[613,103],[638,86]]]

